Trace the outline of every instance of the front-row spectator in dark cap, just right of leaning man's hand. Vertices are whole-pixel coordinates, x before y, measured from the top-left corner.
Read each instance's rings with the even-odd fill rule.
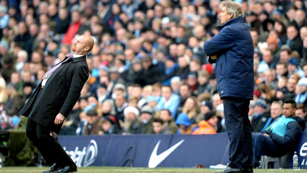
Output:
[[[84,125],[83,135],[98,134],[102,130],[102,121],[98,116],[95,108],[92,108],[85,112],[87,123]]]

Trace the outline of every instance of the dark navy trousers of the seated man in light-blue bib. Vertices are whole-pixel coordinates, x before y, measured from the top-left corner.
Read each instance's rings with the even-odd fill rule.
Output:
[[[264,136],[262,133],[253,134],[254,156],[253,162],[259,166],[261,155],[270,157],[281,157],[286,154],[282,149],[273,142],[270,137]]]

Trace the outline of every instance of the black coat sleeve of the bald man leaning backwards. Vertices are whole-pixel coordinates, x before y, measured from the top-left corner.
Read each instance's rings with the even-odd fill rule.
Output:
[[[71,85],[67,94],[67,97],[63,103],[62,108],[59,113],[63,114],[65,117],[72,110],[77,100],[80,97],[80,92],[89,78],[89,68],[87,66],[78,67],[72,77]]]

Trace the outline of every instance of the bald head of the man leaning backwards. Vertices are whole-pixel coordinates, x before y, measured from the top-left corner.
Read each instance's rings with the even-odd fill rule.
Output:
[[[87,55],[93,49],[93,46],[93,38],[88,35],[82,35],[72,44],[71,50],[77,55]]]

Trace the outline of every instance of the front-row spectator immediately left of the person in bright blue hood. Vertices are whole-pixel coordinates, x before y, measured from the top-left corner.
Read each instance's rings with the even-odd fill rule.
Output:
[[[176,125],[172,115],[168,109],[160,110],[159,118],[163,120],[164,133],[166,134],[176,134],[178,126]]]

